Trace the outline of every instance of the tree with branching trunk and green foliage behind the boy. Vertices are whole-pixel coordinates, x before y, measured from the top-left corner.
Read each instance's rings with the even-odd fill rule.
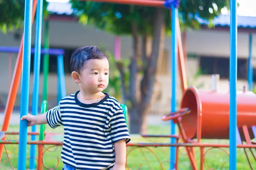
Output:
[[[123,99],[130,102],[130,132],[145,133],[145,117],[151,103],[156,77],[157,59],[163,54],[166,34],[171,31],[170,12],[165,8],[128,6],[110,3],[72,1],[75,14],[81,23],[116,35],[128,34],[133,38],[133,54],[129,65],[128,87],[122,61],[117,61],[122,80]],[[181,0],[179,17],[181,29],[200,28],[197,17],[209,20],[209,26],[221,9],[228,6],[227,0]],[[211,8],[209,10],[209,8]],[[209,12],[211,11],[211,12]],[[141,38],[141,42],[140,42]],[[148,46],[151,44],[151,47]],[[141,44],[141,46],[140,46]],[[141,47],[141,48],[140,48]],[[142,78],[139,79],[139,76]],[[136,88],[139,81],[140,88]]]

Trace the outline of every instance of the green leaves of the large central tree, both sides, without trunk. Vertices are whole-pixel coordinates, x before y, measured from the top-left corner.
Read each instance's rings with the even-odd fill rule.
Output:
[[[131,25],[137,24],[140,34],[152,34],[154,24],[154,8],[145,6],[128,6],[111,3],[95,3],[71,1],[75,14],[83,24],[93,24],[97,28],[116,35],[131,34]],[[181,0],[179,17],[181,29],[200,28],[196,17],[212,20],[221,13],[221,9],[228,6],[228,0]],[[212,8],[212,12],[209,12]],[[171,18],[169,10],[163,8],[166,15],[166,32],[170,33]]]

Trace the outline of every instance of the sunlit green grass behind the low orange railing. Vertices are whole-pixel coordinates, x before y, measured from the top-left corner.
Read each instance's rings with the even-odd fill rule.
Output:
[[[9,131],[18,131],[18,126],[10,126]],[[39,129],[39,126],[38,126]],[[169,134],[169,125],[155,125],[155,126],[148,126],[148,134]],[[29,130],[30,131],[30,128]],[[51,129],[49,126],[46,126],[47,132],[54,132],[54,133],[63,133],[63,129],[61,127],[58,127],[56,129]],[[9,135],[7,136],[7,140],[18,140],[18,136]],[[28,138],[28,140],[30,140]],[[131,142],[163,142],[168,143],[169,139],[163,139],[163,138],[149,138],[149,139],[143,139],[141,137],[133,136]],[[202,140],[201,142],[204,143],[221,143],[221,144],[228,144],[228,140]],[[49,146],[47,146],[49,147]],[[11,162],[15,170],[17,170],[17,159],[18,159],[18,145],[16,144],[6,144],[7,153],[10,156]],[[30,146],[27,146],[27,156],[29,156],[29,148]],[[128,152],[133,149],[134,147],[128,147]],[[169,169],[169,155],[170,155],[170,149],[169,147],[148,147],[154,153],[156,153],[157,157],[159,157],[160,161],[163,163],[163,167],[165,170]],[[127,162],[128,166],[131,170],[138,170],[141,167],[141,170],[161,170],[160,163],[157,161],[156,156],[154,156],[153,153],[148,150],[148,148],[136,148],[128,156]],[[205,148],[205,151],[209,148]],[[228,148],[225,149],[228,151]],[[61,161],[61,147],[53,147],[50,149],[51,152],[47,152],[44,155],[44,164],[49,167],[53,168],[58,164],[57,158],[59,159],[59,165],[56,170],[61,170],[63,163]],[[254,154],[256,155],[256,151],[253,150]],[[195,148],[196,153],[196,159],[197,159],[197,165],[198,168],[200,167],[200,149],[199,147]],[[249,151],[248,151],[249,153]],[[253,156],[251,153],[249,153],[250,161],[252,163],[253,169],[256,169],[256,161],[253,159]],[[215,168],[215,170],[228,170],[229,168],[229,156],[227,156],[226,153],[224,153],[221,150],[218,149],[212,149],[210,150],[206,155],[206,162],[207,167],[209,168]],[[225,163],[226,162],[226,163]],[[250,166],[248,164],[248,161],[246,159],[246,156],[244,154],[243,149],[237,149],[237,169],[238,170],[249,170]],[[224,164],[222,166],[222,164]],[[29,161],[27,160],[27,167],[29,165]],[[1,170],[10,170],[12,169],[9,165],[9,161],[6,156],[6,152],[3,153],[3,158],[0,163],[0,169]],[[46,170],[47,168],[43,168]],[[179,170],[191,170],[190,162],[186,154],[186,150],[184,147],[180,147],[179,152]]]

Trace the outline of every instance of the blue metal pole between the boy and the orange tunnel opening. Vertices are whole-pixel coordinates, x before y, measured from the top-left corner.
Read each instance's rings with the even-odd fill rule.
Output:
[[[172,99],[171,99],[171,111],[176,111],[176,77],[177,77],[177,34],[176,34],[176,22],[178,16],[178,9],[175,6],[172,6]],[[174,135],[176,132],[175,123],[171,120],[171,135]],[[175,138],[171,138],[171,143],[176,142]],[[175,169],[175,160],[176,160],[176,147],[171,147],[170,149],[170,170]]]

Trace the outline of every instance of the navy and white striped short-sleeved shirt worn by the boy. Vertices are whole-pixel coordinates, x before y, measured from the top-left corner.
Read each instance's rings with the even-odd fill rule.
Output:
[[[122,107],[107,93],[93,104],[81,103],[78,93],[46,113],[50,127],[64,126],[62,161],[76,170],[110,170],[115,161],[113,144],[131,140]]]

